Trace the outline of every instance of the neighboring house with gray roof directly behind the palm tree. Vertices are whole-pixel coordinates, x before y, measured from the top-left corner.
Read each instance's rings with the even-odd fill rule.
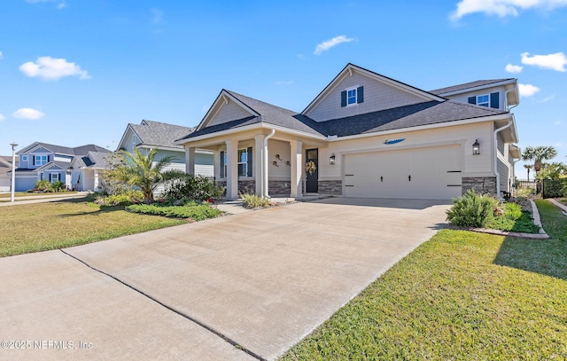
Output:
[[[194,131],[195,128],[183,127],[181,125],[167,124],[164,122],[153,122],[143,120],[140,124],[129,123],[120,139],[118,150],[128,153],[134,152],[137,148],[142,153],[147,154],[151,149],[158,149],[154,161],[159,161],[168,155],[174,160],[167,167],[167,170],[185,171],[185,150],[183,145],[176,145],[174,142],[180,137],[185,137]],[[198,149],[195,152],[195,175],[214,177],[214,158],[213,151]],[[162,191],[159,187],[156,193]]]

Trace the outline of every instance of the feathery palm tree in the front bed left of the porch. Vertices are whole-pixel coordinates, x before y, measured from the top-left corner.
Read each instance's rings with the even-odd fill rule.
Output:
[[[146,202],[153,201],[153,191],[164,182],[163,170],[174,160],[167,155],[155,161],[157,149],[151,149],[146,155],[134,148],[134,153],[120,151],[123,161],[111,171],[111,177],[130,186],[136,186],[144,193]]]

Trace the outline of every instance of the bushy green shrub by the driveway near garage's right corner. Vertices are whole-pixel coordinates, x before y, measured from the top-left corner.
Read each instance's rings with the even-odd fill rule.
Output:
[[[453,207],[447,210],[447,220],[454,225],[484,227],[497,205],[498,200],[493,197],[469,190],[453,200]]]

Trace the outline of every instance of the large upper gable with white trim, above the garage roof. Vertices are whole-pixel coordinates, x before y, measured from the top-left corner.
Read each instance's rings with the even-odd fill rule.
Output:
[[[359,104],[355,106],[341,104],[341,93],[349,89],[363,90],[364,97],[362,101],[357,101]],[[442,101],[444,98],[348,64],[302,114],[314,119],[315,122],[324,122],[338,117],[371,113],[431,100]]]

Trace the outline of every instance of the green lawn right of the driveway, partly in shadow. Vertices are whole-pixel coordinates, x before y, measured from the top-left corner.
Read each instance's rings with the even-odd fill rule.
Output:
[[[537,203],[553,239],[443,230],[282,359],[564,360],[567,217]]]

